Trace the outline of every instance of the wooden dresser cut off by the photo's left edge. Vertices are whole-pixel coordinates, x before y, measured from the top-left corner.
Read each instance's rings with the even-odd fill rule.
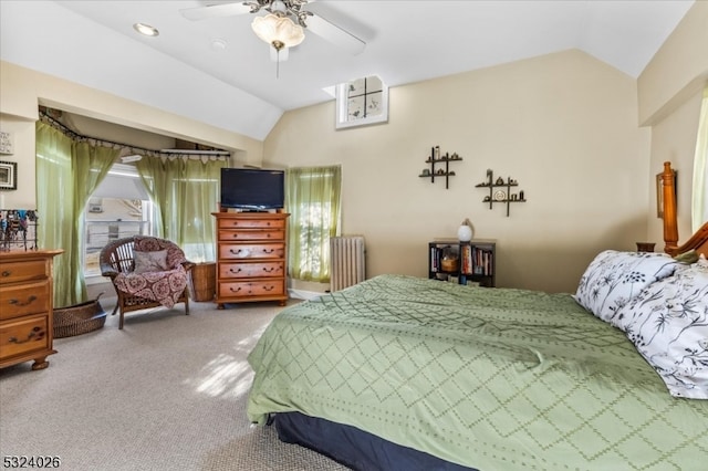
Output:
[[[53,347],[54,257],[62,250],[0,253],[0,368],[33,359],[49,366]]]

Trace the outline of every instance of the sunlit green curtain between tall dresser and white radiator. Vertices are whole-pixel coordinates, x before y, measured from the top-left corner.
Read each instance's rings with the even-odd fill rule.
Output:
[[[287,176],[288,274],[329,283],[330,238],[337,234],[340,223],[342,168],[291,168]]]

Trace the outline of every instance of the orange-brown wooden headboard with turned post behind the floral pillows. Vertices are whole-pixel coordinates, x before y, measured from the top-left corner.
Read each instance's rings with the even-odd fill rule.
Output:
[[[686,242],[678,245],[678,221],[676,219],[676,188],[671,163],[664,163],[662,172],[664,196],[664,251],[669,255],[687,252],[691,249],[708,259],[708,221]]]

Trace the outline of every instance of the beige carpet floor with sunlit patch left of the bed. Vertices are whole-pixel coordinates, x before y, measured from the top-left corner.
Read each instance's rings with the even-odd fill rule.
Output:
[[[280,310],[191,303],[56,339],[49,368],[0,369],[0,454],[58,456],[67,471],[345,470],[248,421],[246,357]]]

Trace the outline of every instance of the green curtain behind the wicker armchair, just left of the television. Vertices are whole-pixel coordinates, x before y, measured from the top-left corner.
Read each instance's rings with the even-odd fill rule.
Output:
[[[216,220],[226,159],[144,157],[136,164],[157,209],[157,234],[176,242],[192,262],[216,260]]]

